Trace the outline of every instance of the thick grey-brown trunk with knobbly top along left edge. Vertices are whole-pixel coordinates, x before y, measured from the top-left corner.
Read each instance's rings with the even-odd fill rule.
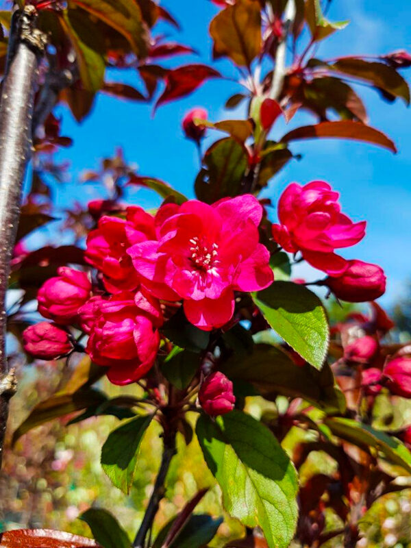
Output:
[[[0,464],[8,402],[15,392],[14,372],[5,356],[6,312],[10,260],[18,226],[21,189],[32,148],[34,88],[45,36],[36,29],[37,12],[27,5],[14,12],[8,62],[0,101]]]

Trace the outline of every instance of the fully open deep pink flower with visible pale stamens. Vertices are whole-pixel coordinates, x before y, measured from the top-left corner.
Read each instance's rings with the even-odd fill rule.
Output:
[[[273,282],[269,251],[259,243],[261,218],[262,206],[251,195],[212,206],[186,201],[166,216],[158,241],[128,252],[143,286],[159,299],[184,299],[188,320],[209,331],[232,318],[235,290],[257,291]]]

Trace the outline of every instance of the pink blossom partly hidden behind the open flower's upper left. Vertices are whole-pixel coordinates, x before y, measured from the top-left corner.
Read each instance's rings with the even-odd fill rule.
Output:
[[[86,260],[103,273],[110,293],[138,288],[139,277],[127,249],[155,237],[153,216],[142,208],[127,208],[127,218],[103,216],[88,234]]]

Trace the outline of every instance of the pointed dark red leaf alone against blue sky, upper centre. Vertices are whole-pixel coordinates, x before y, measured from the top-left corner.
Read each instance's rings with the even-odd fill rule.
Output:
[[[219,78],[221,74],[205,64],[187,64],[169,71],[164,81],[166,88],[155,103],[155,108],[173,99],[179,99],[197,89],[208,78]]]

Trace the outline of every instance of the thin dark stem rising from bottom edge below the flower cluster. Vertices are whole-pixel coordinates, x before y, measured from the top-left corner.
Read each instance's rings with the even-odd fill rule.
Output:
[[[147,532],[153,525],[155,514],[157,514],[158,506],[160,505],[160,500],[164,497],[164,481],[166,479],[167,472],[169,471],[171,459],[175,455],[175,434],[175,431],[170,432],[168,435],[164,432],[164,449],[162,453],[160,470],[158,471],[158,475],[155,479],[153,493],[151,493],[145,516],[142,519],[142,523],[136,534],[136,538],[134,538],[133,548],[144,548]]]

